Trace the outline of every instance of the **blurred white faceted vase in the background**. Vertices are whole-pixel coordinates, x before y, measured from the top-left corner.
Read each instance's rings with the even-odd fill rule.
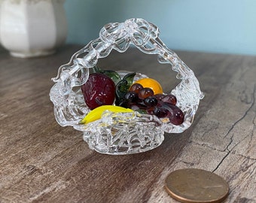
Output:
[[[52,54],[66,41],[65,0],[3,0],[0,41],[12,56]]]

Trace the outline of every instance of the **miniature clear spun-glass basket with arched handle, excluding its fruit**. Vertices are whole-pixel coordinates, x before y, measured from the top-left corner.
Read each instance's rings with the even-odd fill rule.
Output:
[[[169,50],[159,38],[159,29],[146,20],[134,18],[124,23],[108,23],[99,32],[99,38],[78,50],[69,63],[59,67],[50,89],[56,121],[60,126],[73,126],[83,132],[84,141],[99,153],[141,153],[158,147],[164,132],[180,133],[194,120],[203,92],[194,72]],[[177,106],[184,113],[184,123],[175,126],[151,114],[139,112],[113,113],[104,111],[102,117],[86,125],[80,121],[90,112],[84,102],[81,86],[87,82],[90,68],[111,50],[125,52],[130,44],[146,54],[156,54],[160,63],[169,63],[170,70],[178,72],[180,81],[170,93],[177,98]],[[117,71],[123,77],[127,71]],[[134,80],[147,77],[136,73]]]

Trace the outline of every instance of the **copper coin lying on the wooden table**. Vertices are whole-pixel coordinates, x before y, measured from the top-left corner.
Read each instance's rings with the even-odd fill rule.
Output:
[[[166,177],[166,191],[181,202],[221,202],[227,198],[227,182],[217,174],[197,168],[173,171]]]

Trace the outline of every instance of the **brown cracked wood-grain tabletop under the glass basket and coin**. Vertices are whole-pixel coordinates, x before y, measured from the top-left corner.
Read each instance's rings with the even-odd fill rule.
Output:
[[[177,51],[206,95],[193,125],[146,153],[109,156],[53,116],[50,78],[81,47],[37,59],[0,52],[0,202],[176,202],[163,184],[178,168],[224,177],[225,202],[256,202],[256,56]],[[178,83],[169,65],[138,50],[112,52],[99,65],[143,72],[166,91]]]

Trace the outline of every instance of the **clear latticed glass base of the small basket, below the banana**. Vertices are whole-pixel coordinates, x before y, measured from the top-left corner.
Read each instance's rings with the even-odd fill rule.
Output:
[[[92,129],[93,128],[93,129]],[[142,153],[162,144],[164,132],[155,123],[92,126],[83,138],[90,149],[99,153],[122,155]]]

